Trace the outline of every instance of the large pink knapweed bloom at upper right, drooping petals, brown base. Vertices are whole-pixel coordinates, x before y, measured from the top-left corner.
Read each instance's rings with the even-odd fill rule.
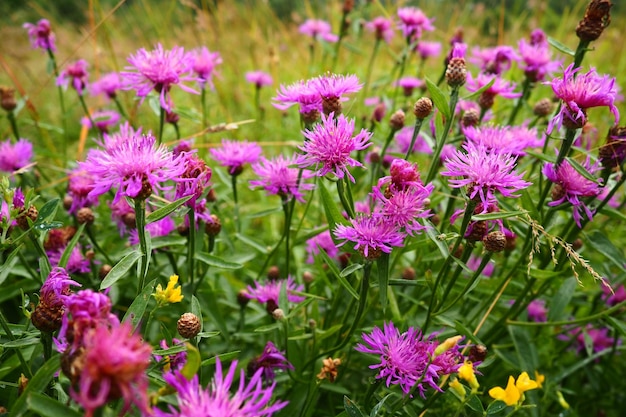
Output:
[[[591,107],[607,106],[615,117],[615,124],[619,122],[619,110],[614,104],[617,95],[615,78],[599,76],[595,68],[584,74],[579,73],[581,70],[581,67],[574,68],[572,63],[563,71],[563,78],[544,83],[552,86],[554,94],[563,100],[561,110],[548,124],[548,133],[555,126],[560,129],[563,124],[569,129],[583,127],[587,122],[587,109]]]

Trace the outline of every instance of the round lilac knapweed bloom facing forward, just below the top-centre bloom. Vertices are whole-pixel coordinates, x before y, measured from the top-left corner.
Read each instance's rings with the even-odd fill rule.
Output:
[[[296,163],[300,168],[315,166],[315,175],[320,177],[333,172],[338,178],[347,175],[355,182],[348,167],[363,167],[363,164],[351,158],[350,153],[369,147],[372,134],[365,129],[354,137],[353,133],[354,120],[348,120],[344,115],[335,119],[334,113],[322,115],[322,123],[303,132],[308,140],[299,147],[303,154],[298,156]]]

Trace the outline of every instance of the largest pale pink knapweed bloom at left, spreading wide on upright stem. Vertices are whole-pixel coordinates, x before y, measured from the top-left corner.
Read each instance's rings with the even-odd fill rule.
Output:
[[[117,188],[114,202],[122,197],[145,199],[164,183],[185,172],[182,159],[174,157],[165,145],[156,146],[150,133],[142,135],[128,124],[120,128],[121,136],[105,136],[107,149],[92,149],[80,169],[94,178],[90,196],[99,196]],[[108,141],[108,142],[107,142]]]

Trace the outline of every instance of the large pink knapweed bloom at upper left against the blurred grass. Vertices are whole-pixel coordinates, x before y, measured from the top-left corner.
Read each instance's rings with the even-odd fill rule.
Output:
[[[131,66],[121,73],[126,83],[124,88],[137,91],[137,96],[142,100],[155,90],[159,94],[161,107],[168,112],[173,107],[170,90],[174,85],[189,93],[198,94],[196,90],[183,84],[185,81],[200,79],[193,75],[194,59],[180,46],[164,50],[159,43],[152,51],[141,48],[128,58],[128,62]]]

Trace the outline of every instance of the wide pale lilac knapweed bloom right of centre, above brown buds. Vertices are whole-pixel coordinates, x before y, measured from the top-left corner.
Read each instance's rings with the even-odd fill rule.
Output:
[[[467,186],[468,196],[480,198],[484,210],[496,200],[496,191],[505,197],[518,197],[514,194],[516,191],[531,185],[522,179],[523,173],[514,171],[517,157],[510,153],[488,152],[486,147],[473,142],[466,142],[463,149],[465,152],[457,150],[446,159],[446,171],[441,175],[459,177],[449,180],[450,186]]]

